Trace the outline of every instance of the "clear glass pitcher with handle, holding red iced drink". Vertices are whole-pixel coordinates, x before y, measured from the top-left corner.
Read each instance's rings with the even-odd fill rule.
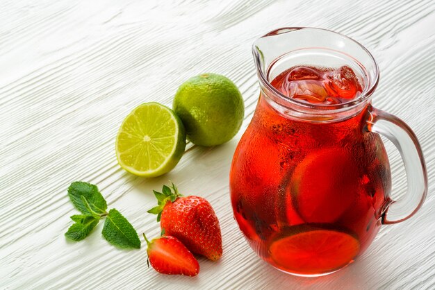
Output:
[[[372,108],[379,71],[354,40],[319,28],[280,28],[253,45],[261,87],[231,164],[234,217],[249,246],[294,275],[338,271],[368,248],[382,224],[404,221],[427,194],[425,161],[402,120]],[[354,71],[361,92],[349,101],[291,99],[273,80],[294,67]],[[400,151],[407,193],[393,201],[379,135]]]

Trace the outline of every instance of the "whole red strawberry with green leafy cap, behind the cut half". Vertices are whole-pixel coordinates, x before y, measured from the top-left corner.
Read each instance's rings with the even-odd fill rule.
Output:
[[[222,235],[217,216],[206,199],[181,196],[177,187],[163,185],[162,192],[154,191],[158,205],[148,212],[157,214],[161,229],[177,237],[192,253],[212,261],[222,256]]]

